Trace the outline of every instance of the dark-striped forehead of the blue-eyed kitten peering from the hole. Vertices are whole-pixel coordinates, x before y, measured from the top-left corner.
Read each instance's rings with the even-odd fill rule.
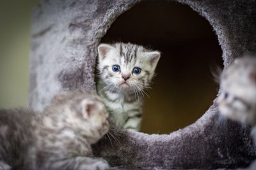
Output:
[[[131,43],[117,43],[115,44],[116,50],[118,50],[120,57],[124,58],[124,63],[127,64],[132,60],[137,59],[139,45],[132,45]]]

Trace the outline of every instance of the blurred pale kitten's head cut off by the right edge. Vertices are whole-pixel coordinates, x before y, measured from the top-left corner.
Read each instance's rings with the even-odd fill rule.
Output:
[[[236,59],[221,74],[220,113],[241,123],[256,123],[256,58]]]

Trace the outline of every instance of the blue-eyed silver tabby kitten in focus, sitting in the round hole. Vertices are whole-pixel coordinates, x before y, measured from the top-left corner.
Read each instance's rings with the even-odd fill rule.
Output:
[[[131,43],[100,44],[98,53],[97,91],[110,117],[118,127],[139,131],[143,90],[149,87],[160,53]]]

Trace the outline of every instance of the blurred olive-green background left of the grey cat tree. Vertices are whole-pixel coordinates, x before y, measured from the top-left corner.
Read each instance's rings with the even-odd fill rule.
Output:
[[[36,3],[0,3],[0,108],[28,104],[30,18]]]

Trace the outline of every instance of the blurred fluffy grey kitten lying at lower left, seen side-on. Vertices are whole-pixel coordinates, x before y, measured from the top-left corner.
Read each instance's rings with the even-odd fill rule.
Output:
[[[108,132],[99,97],[76,90],[52,100],[43,113],[0,110],[0,169],[106,169],[91,145]]]

